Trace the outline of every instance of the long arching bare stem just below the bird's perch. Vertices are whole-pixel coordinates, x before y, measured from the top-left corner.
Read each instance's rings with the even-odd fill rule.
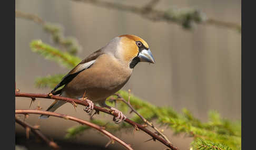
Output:
[[[132,147],[129,146],[128,144],[126,144],[125,142],[123,142],[122,140],[120,140],[120,138],[115,137],[113,134],[107,132],[106,130],[104,130],[101,126],[96,125],[94,123],[82,120],[82,119],[78,119],[76,117],[73,116],[69,116],[69,115],[65,115],[65,114],[60,114],[60,113],[54,113],[54,112],[49,112],[49,111],[38,111],[38,110],[15,110],[15,114],[43,114],[43,115],[51,115],[51,116],[55,116],[55,117],[61,117],[63,119],[67,119],[67,120],[72,120],[75,122],[78,122],[80,124],[85,124],[87,126],[90,126],[92,128],[95,128],[96,130],[100,131],[101,133],[105,134],[107,137],[109,137],[111,140],[114,140],[116,142],[119,142],[120,144],[122,144],[125,148],[132,150]]]

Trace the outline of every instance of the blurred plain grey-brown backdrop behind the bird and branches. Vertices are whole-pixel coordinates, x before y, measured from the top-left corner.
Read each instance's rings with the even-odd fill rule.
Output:
[[[143,7],[150,1],[109,2]],[[208,18],[241,25],[241,1],[162,0],[154,9],[173,7],[196,8]],[[131,12],[68,0],[17,0],[15,9],[40,16],[46,22],[60,24],[64,28],[64,36],[76,37],[82,47],[77,56],[82,59],[116,36],[137,35],[149,44],[156,63],[139,63],[124,90],[131,89],[134,95],[143,100],[158,106],[171,106],[178,112],[186,108],[202,121],[207,121],[209,110],[216,110],[227,119],[241,119],[241,33],[237,30],[214,25],[196,25],[187,30],[175,23],[153,22]],[[35,88],[35,78],[65,74],[70,70],[32,52],[29,43],[33,39],[41,39],[54,45],[42,26],[15,18],[16,87],[21,92],[48,93],[52,89]],[[29,99],[17,99],[16,109],[29,108]],[[46,109],[51,103],[52,100],[37,99],[32,108],[40,104]],[[65,104],[57,112],[88,118],[82,106],[78,106],[77,111],[70,108],[70,104]],[[105,117],[112,120],[110,116]],[[40,124],[41,131],[57,140],[57,143],[63,143],[61,146],[66,142],[73,142],[76,146],[80,145],[81,149],[104,149],[108,142],[107,138],[95,131],[84,133],[73,141],[64,140],[67,128],[77,124],[62,119],[50,117],[48,120],[38,120],[37,115],[31,115],[27,122]],[[180,149],[189,149],[190,138],[173,136],[169,130],[164,133]],[[23,136],[25,137],[24,129],[16,125],[16,143],[22,143]],[[165,148],[160,142],[143,143],[150,138],[143,132],[120,132],[117,136],[131,143],[134,149]],[[86,148],[81,144],[86,145]],[[50,149],[44,143],[41,146],[43,149]],[[63,147],[68,149],[68,146]],[[29,146],[27,148],[31,149]],[[119,144],[108,147],[120,148]]]

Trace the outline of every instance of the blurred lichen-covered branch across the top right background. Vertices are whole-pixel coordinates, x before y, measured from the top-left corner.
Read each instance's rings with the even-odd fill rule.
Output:
[[[226,27],[234,30],[241,31],[241,25],[236,23],[224,22],[216,19],[205,19],[204,15],[202,15],[199,10],[190,11],[190,9],[186,11],[163,11],[153,9],[153,6],[157,4],[159,1],[152,0],[145,7],[137,7],[137,6],[129,6],[116,2],[105,2],[99,0],[72,0],[76,2],[83,2],[93,4],[95,6],[112,8],[117,10],[122,10],[130,13],[134,13],[137,15],[141,15],[147,19],[152,21],[164,21],[167,23],[176,23],[182,25],[184,28],[191,28],[192,23],[203,23],[204,25],[215,25],[218,27]],[[185,9],[184,9],[185,10]]]

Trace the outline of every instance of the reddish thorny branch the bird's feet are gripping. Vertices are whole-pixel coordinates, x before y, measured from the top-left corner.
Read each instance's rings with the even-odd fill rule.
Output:
[[[26,98],[45,98],[45,99],[54,99],[54,100],[62,100],[62,101],[66,101],[69,103],[76,103],[76,104],[80,104],[80,105],[84,105],[87,106],[88,103],[86,101],[81,101],[81,100],[77,100],[77,99],[71,99],[71,98],[66,98],[66,97],[60,97],[60,96],[55,96],[55,95],[48,95],[48,94],[33,94],[33,93],[15,93],[15,97],[26,97]],[[111,110],[106,110],[103,109],[99,106],[94,106],[94,110],[95,111],[101,111],[107,114],[111,114],[113,116],[117,116],[118,114],[111,111]],[[145,128],[144,125],[138,124],[136,122],[131,121],[130,119],[126,119],[124,120],[125,122],[131,124],[133,127],[135,128],[139,128],[140,130],[142,130],[143,132],[145,132],[146,134],[149,134],[150,136],[152,136],[153,140],[157,140],[161,143],[163,143],[164,145],[168,146],[169,148],[171,148],[172,150],[177,150],[178,147],[173,146],[173,144],[169,143],[168,141],[164,140],[162,137],[160,137],[159,135],[147,130]]]

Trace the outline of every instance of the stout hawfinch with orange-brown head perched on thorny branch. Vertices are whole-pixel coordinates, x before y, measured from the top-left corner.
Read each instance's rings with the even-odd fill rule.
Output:
[[[107,105],[105,100],[125,85],[139,62],[155,63],[146,41],[135,35],[117,36],[78,63],[51,93],[79,100],[84,100],[84,93],[86,93],[85,101],[88,106],[85,107],[85,112],[91,112],[94,103],[97,103],[116,112],[118,116],[113,117],[113,121],[119,124],[126,119],[126,116]],[[62,89],[57,90],[62,86]],[[55,100],[46,111],[54,112],[65,103],[65,101]],[[41,115],[40,119],[47,117],[49,115]]]

